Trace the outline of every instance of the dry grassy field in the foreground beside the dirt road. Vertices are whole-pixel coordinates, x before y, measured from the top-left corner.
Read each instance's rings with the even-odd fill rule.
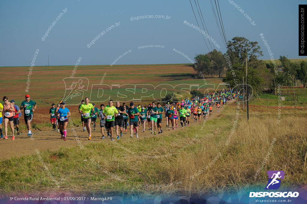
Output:
[[[50,178],[37,154],[1,159],[0,194],[34,196],[33,192],[57,189],[58,193],[113,192],[142,197],[157,193],[215,194],[224,190],[240,191],[246,185],[252,191],[264,188],[268,170],[285,171],[281,191],[307,184],[306,111],[282,110],[281,122],[277,125],[276,110],[251,108],[248,124],[245,112],[240,110],[237,127],[230,137],[236,107],[229,105],[225,108],[220,117],[184,128],[176,135],[98,142],[83,150],[78,147],[37,150],[59,184],[52,181],[54,179]],[[274,138],[276,142],[271,155],[255,178]],[[202,173],[197,173],[201,170]],[[112,178],[106,171],[120,180]],[[141,184],[173,182],[182,183],[161,188],[141,187]]]

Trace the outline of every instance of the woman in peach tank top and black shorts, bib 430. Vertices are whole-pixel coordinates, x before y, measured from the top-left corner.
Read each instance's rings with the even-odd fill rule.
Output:
[[[12,140],[15,139],[14,136],[14,124],[13,124],[13,112],[15,111],[14,105],[9,102],[9,99],[6,96],[3,96],[4,104],[3,104],[3,114],[4,114],[4,139],[7,139],[7,124],[10,124],[10,128],[12,131]]]

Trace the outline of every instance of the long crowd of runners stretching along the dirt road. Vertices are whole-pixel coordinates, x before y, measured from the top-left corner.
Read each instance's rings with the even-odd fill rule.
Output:
[[[92,133],[91,128],[96,130],[97,118],[100,121],[100,129],[102,137],[105,139],[104,133],[106,131],[107,137],[110,137],[113,141],[113,128],[115,126],[116,139],[120,139],[123,136],[123,132],[127,132],[127,126],[130,128],[130,138],[138,138],[139,130],[142,128],[142,132],[147,130],[146,123],[148,123],[148,131],[151,134],[157,135],[163,133],[162,119],[165,118],[166,129],[169,131],[175,130],[178,127],[178,119],[180,121],[181,128],[189,126],[190,118],[194,122],[200,123],[201,120],[207,120],[212,115],[213,107],[216,106],[216,111],[219,112],[220,108],[227,104],[227,101],[231,101],[236,97],[237,93],[228,91],[212,92],[204,94],[204,96],[197,96],[191,99],[182,99],[181,102],[169,103],[164,106],[154,101],[148,105],[138,104],[134,105],[130,103],[130,107],[120,102],[114,104],[113,100],[108,102],[108,105],[100,104],[100,109],[95,107],[95,104],[89,103],[89,98],[86,97],[81,101],[79,106],[79,114],[81,115],[81,122],[83,131],[88,133],[88,139],[91,140]],[[10,100],[4,96],[3,105],[0,104],[0,131],[1,138],[8,139],[8,124],[12,131],[12,140],[15,139],[14,133],[20,135],[19,130],[19,117],[22,115],[21,110],[24,111],[24,120],[28,129],[28,137],[33,137],[31,132],[31,120],[33,118],[33,112],[37,108],[37,104],[30,100],[30,96],[25,95],[25,100],[22,101],[21,106],[15,105],[14,100]],[[49,110],[50,122],[52,124],[52,130],[60,133],[61,139],[66,141],[68,118],[71,117],[71,113],[68,108],[65,107],[66,103],[60,101],[55,107],[52,104],[52,108]],[[2,114],[4,119],[5,136],[3,137],[2,130]],[[56,130],[57,128],[57,130]],[[164,128],[163,128],[164,129]]]

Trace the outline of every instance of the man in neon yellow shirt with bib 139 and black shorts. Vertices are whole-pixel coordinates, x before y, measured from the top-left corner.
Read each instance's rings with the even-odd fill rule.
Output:
[[[117,116],[118,111],[113,106],[113,100],[109,100],[109,105],[107,105],[103,110],[103,115],[106,117],[106,129],[108,131],[108,135],[111,136],[111,141],[113,141],[113,127],[114,127],[114,120]],[[117,137],[119,139],[119,137]]]

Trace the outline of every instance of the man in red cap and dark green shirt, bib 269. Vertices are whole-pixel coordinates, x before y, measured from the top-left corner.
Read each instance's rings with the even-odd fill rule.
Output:
[[[35,111],[36,107],[37,104],[33,100],[30,100],[30,95],[25,95],[25,100],[22,101],[20,105],[20,110],[24,109],[23,115],[25,119],[25,124],[27,124],[28,128],[28,137],[32,137],[31,120],[33,118],[33,112]]]

